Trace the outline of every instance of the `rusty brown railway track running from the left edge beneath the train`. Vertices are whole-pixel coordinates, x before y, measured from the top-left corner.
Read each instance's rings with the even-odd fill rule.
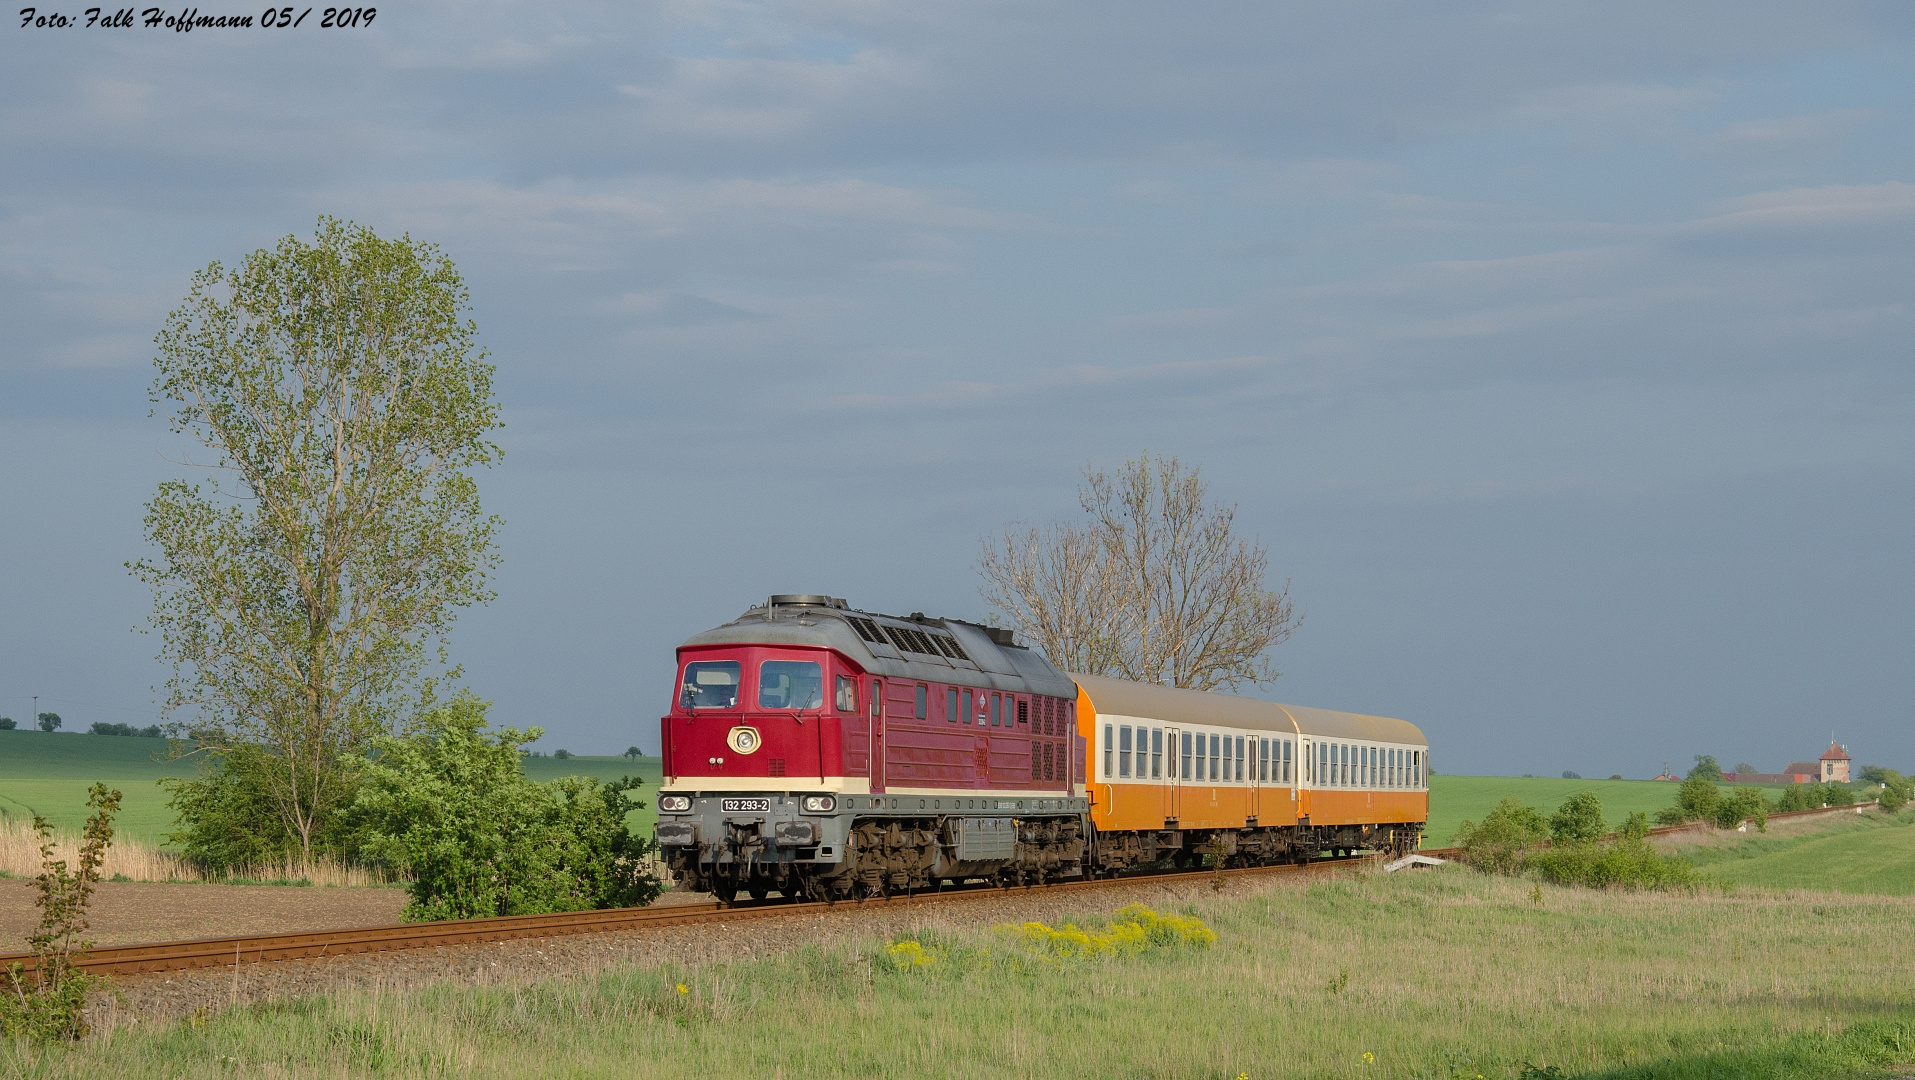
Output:
[[[1296,875],[1323,873],[1350,864],[1373,862],[1373,856],[1350,856],[1337,860],[1318,860],[1302,866],[1256,866],[1224,869],[1222,877],[1243,875]],[[827,910],[846,908],[898,908],[913,904],[940,904],[954,900],[1002,898],[1017,892],[1057,892],[1076,889],[1109,889],[1155,881],[1203,881],[1216,879],[1216,869],[1183,873],[1145,873],[1105,877],[1097,881],[1067,881],[1040,889],[952,889],[942,892],[919,892],[915,896],[890,896],[889,900],[866,900],[862,904],[668,904],[663,908],[613,908],[609,911],[565,911],[555,915],[502,915],[496,919],[450,919],[442,923],[406,923],[396,927],[362,927],[350,931],[310,931],[297,934],[247,934],[232,938],[195,938],[184,942],[153,942],[126,946],[96,946],[73,956],[73,967],[94,975],[134,975],[153,971],[184,971],[192,967],[237,967],[241,963],[264,963],[278,959],[320,959],[327,956],[349,956],[362,952],[396,952],[414,948],[439,948],[477,942],[502,942],[513,938],[546,938],[561,934],[594,934],[607,931],[634,931],[643,927],[672,927],[686,923],[724,923],[739,919],[764,919],[777,915],[810,915]],[[33,954],[0,954],[0,971],[11,965],[25,971],[34,969]]]

